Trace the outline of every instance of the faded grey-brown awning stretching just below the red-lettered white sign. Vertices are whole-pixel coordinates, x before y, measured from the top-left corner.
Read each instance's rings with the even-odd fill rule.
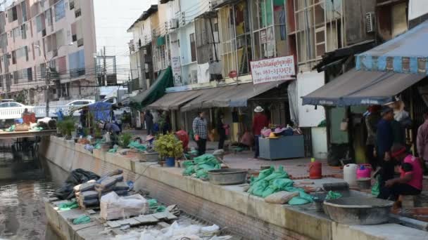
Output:
[[[246,107],[248,99],[256,97],[272,88],[277,88],[286,81],[266,84],[235,84],[217,88],[203,89],[201,95],[180,108],[182,112],[210,107]]]

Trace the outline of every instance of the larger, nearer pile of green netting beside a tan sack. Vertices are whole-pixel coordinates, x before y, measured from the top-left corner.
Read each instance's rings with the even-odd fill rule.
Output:
[[[302,205],[313,202],[313,197],[307,194],[303,188],[293,187],[293,185],[294,181],[289,179],[289,175],[284,171],[283,166],[279,166],[277,170],[274,166],[270,166],[270,168],[260,171],[257,178],[251,178],[248,193],[265,198],[280,191],[298,192],[299,195],[294,196],[288,204]]]

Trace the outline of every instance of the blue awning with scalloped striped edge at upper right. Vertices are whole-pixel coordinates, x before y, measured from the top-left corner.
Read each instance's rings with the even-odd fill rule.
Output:
[[[356,69],[427,74],[428,21],[386,43],[355,55]]]

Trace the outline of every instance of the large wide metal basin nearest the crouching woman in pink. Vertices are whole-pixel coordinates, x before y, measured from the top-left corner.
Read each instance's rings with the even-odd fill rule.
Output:
[[[370,197],[343,197],[324,201],[327,215],[346,225],[377,225],[389,220],[392,201]]]

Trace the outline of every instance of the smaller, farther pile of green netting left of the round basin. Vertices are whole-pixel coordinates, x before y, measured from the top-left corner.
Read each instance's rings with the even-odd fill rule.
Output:
[[[185,161],[183,163],[183,175],[190,176],[196,173],[196,178],[208,179],[208,171],[220,169],[220,162],[213,154],[203,154],[197,156],[194,161]]]

